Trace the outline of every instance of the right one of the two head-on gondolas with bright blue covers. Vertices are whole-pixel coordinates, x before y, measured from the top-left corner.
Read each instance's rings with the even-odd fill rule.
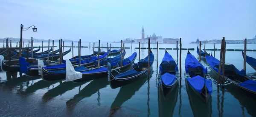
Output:
[[[186,88],[191,88],[201,100],[207,103],[211,97],[212,81],[206,79],[207,68],[189,50],[185,59],[185,75]]]

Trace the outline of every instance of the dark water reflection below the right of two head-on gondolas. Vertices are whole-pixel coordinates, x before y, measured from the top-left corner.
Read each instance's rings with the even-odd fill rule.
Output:
[[[210,117],[212,115],[212,100],[211,97],[207,103],[204,103],[193,89],[186,83],[186,90],[189,97],[189,104],[191,106],[194,117]]]

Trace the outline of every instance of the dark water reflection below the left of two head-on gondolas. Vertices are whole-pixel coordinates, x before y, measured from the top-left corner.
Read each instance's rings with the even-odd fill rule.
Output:
[[[172,92],[169,92],[166,97],[163,96],[163,92],[158,87],[158,114],[159,117],[172,117],[178,96],[178,87],[175,86]]]

